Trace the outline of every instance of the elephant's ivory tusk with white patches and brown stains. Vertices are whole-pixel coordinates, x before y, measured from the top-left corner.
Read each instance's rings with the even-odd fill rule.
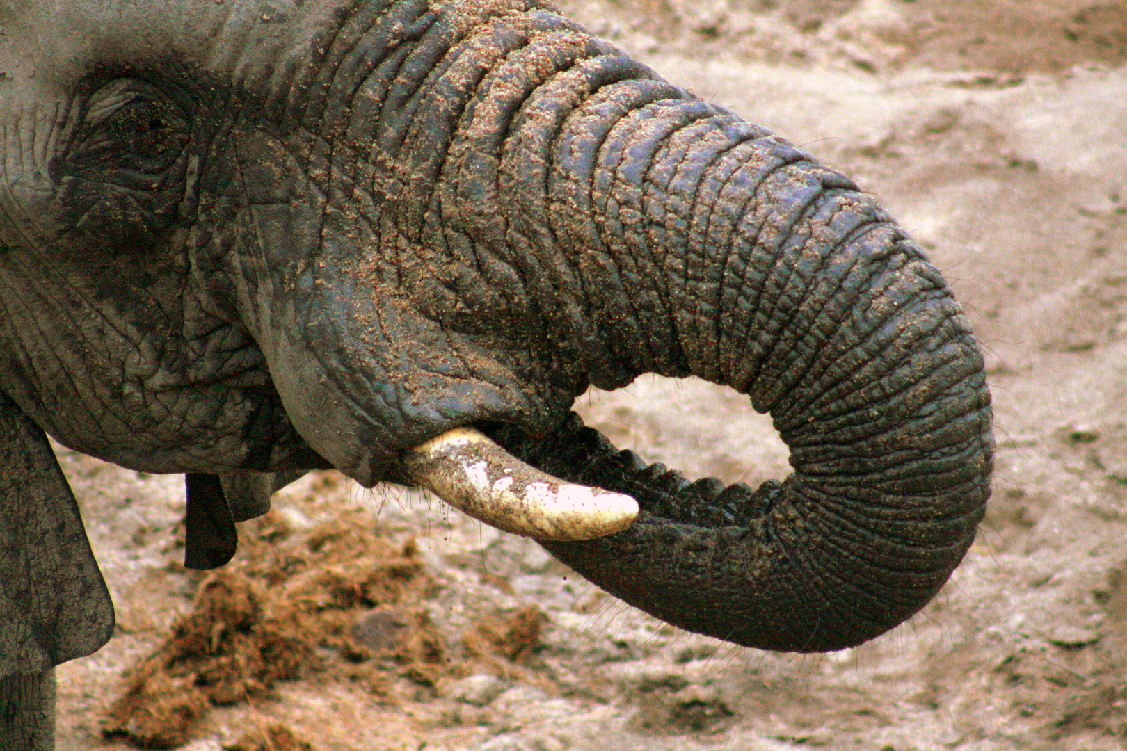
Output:
[[[474,519],[514,535],[567,540],[629,527],[638,501],[573,485],[512,456],[473,428],[453,428],[405,452],[411,480]]]

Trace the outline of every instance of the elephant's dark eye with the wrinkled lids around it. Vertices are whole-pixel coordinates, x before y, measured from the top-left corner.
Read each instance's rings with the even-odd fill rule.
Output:
[[[97,89],[51,166],[63,234],[121,250],[151,244],[175,220],[190,140],[184,109],[156,86],[122,79]]]

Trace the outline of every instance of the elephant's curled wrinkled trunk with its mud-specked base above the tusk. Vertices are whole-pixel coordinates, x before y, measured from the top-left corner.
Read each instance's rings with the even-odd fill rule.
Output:
[[[364,8],[316,46],[329,79],[289,87],[325,98],[279,109],[307,124],[285,153],[325,182],[298,202],[320,227],[298,270],[321,276],[291,287],[326,313],[258,329],[310,445],[370,484],[473,424],[630,494],[629,529],[545,546],[740,644],[840,649],[919,610],[974,537],[992,444],[982,357],[915,244],[848,179],[535,0]],[[748,394],[795,473],[689,483],[560,426],[588,384],[647,372]]]

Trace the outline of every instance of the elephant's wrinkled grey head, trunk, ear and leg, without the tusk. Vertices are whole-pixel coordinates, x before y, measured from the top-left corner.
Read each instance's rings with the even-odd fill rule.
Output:
[[[846,178],[550,10],[0,15],[0,746],[51,748],[52,667],[113,628],[44,433],[220,475],[222,527],[265,509],[254,473],[401,480],[474,424],[639,499],[552,553],[762,649],[871,638],[969,546],[990,395],[939,272]],[[647,372],[747,393],[793,475],[689,483],[568,417]]]

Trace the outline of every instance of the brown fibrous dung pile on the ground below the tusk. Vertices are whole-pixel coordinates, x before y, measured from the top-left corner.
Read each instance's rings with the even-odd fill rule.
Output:
[[[248,526],[247,549],[203,578],[192,611],[132,671],[107,734],[175,748],[210,707],[279,680],[344,670],[387,692],[398,677],[433,686],[459,671],[419,607],[437,585],[414,537],[393,543],[361,510],[301,531],[273,512]]]

